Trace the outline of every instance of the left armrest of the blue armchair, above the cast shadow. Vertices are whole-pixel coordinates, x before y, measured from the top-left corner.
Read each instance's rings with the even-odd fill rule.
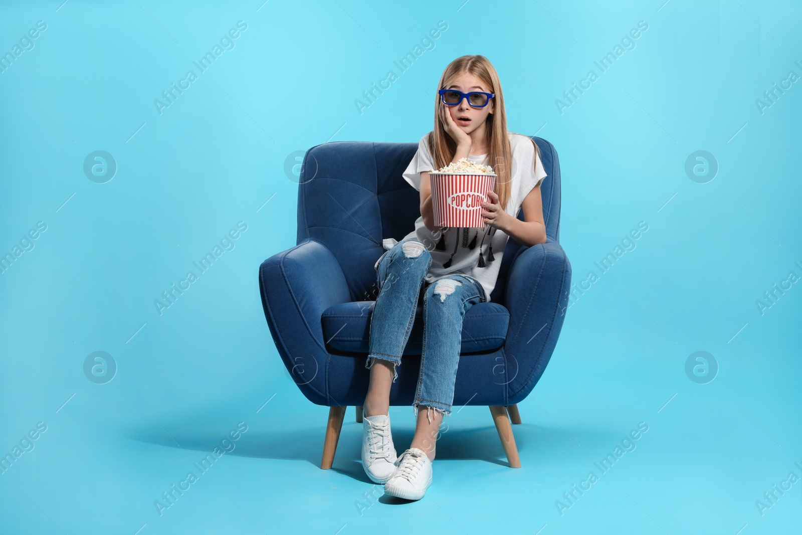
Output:
[[[304,241],[259,267],[261,304],[279,355],[303,395],[329,405],[329,353],[320,318],[330,306],[350,301],[334,254],[318,241]]]

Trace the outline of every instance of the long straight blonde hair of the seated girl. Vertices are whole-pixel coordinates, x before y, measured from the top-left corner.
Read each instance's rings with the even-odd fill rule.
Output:
[[[493,97],[493,112],[488,114],[485,121],[485,131],[487,132],[488,144],[488,164],[496,172],[496,185],[493,191],[499,196],[499,204],[502,208],[507,208],[507,203],[512,197],[510,185],[512,184],[512,148],[509,144],[507,132],[507,114],[504,111],[504,93],[501,91],[501,83],[496,74],[496,69],[492,63],[483,55],[464,55],[448,64],[448,67],[440,76],[437,89],[447,89],[448,85],[456,76],[468,73],[480,79],[484,85],[488,86],[488,91],[495,93]],[[456,154],[456,141],[448,135],[445,130],[443,118],[438,113],[440,106],[439,95],[435,95],[435,129],[429,132],[428,145],[432,159],[435,161],[435,169],[439,169],[451,163]],[[537,145],[536,145],[537,147]]]

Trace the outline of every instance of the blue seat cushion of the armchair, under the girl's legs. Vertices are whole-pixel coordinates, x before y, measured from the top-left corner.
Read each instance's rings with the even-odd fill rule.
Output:
[[[354,301],[323,311],[323,338],[330,352],[370,352],[371,317],[375,301]],[[495,351],[504,345],[509,326],[508,310],[496,302],[481,302],[465,313],[460,353]],[[403,355],[423,352],[423,306],[415,310],[415,322]]]

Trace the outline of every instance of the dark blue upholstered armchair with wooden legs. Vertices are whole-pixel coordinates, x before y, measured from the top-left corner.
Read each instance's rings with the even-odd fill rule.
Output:
[[[548,176],[541,184],[547,241],[510,238],[490,302],[465,315],[454,405],[488,405],[511,467],[520,467],[516,403],[541,378],[557,344],[571,283],[560,246],[560,166],[552,144],[532,138]],[[367,394],[370,322],[382,240],[415,228],[419,193],[402,173],[417,143],[338,141],[306,152],[298,188],[298,245],[262,262],[259,287],[279,355],[303,395],[330,407],[321,468],[331,468],[348,405]],[[524,211],[519,219],[524,221]],[[411,405],[423,339],[422,307],[390,404]]]

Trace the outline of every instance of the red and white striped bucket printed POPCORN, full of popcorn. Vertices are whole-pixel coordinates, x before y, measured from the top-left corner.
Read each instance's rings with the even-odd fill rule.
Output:
[[[429,172],[435,226],[484,228],[482,203],[491,202],[496,175]]]

